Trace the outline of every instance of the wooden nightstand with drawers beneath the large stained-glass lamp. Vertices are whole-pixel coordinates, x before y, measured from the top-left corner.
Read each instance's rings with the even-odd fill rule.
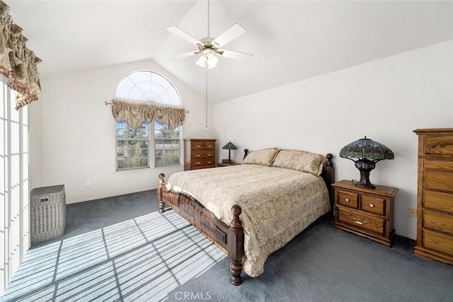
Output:
[[[350,180],[332,185],[335,202],[333,226],[387,247],[395,236],[395,187],[376,185],[375,189],[357,187]]]

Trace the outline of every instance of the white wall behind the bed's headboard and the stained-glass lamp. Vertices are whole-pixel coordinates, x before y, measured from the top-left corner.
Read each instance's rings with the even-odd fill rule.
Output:
[[[282,72],[281,76],[285,76]],[[244,83],[245,85],[246,83]],[[417,137],[413,129],[453,127],[453,40],[214,105],[219,146],[333,153],[336,180],[360,178],[340,149],[364,137],[395,153],[370,180],[398,187],[396,233],[416,238]],[[227,158],[220,149],[218,159]]]

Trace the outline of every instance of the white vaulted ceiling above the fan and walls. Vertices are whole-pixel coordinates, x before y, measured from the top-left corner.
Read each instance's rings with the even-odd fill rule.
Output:
[[[42,79],[151,59],[205,95],[197,57],[174,59],[196,47],[166,28],[206,37],[206,0],[5,2]],[[212,37],[234,23],[247,33],[225,48],[253,59],[208,71],[213,103],[453,40],[453,1],[210,1]]]

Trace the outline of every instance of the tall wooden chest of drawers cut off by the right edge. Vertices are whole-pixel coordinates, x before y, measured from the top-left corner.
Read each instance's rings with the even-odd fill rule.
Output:
[[[453,128],[418,135],[415,255],[453,265]]]

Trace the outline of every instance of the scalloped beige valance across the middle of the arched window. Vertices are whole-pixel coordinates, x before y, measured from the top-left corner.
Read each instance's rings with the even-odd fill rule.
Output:
[[[127,125],[134,129],[141,127],[142,124],[151,124],[155,118],[159,124],[167,124],[168,129],[173,130],[183,125],[185,117],[183,108],[124,100],[113,100],[112,113],[117,122],[127,122]]]

